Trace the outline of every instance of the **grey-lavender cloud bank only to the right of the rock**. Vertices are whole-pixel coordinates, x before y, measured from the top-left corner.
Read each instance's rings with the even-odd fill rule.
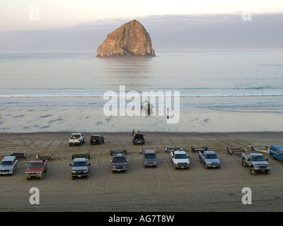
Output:
[[[283,49],[283,13],[251,16],[151,16],[141,23],[148,24],[153,44],[160,49]]]

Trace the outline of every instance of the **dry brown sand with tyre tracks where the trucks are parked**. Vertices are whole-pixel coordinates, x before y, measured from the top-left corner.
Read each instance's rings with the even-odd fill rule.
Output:
[[[41,114],[41,113],[38,113]],[[50,113],[49,113],[50,114]],[[42,116],[45,114],[42,114]],[[46,117],[47,118],[47,117]],[[45,119],[46,119],[45,118]],[[42,124],[43,126],[44,124]],[[138,129],[138,128],[137,128]],[[1,211],[281,211],[283,207],[282,162],[269,160],[270,175],[250,175],[239,155],[228,155],[226,147],[282,144],[282,132],[166,133],[144,131],[143,148],[156,148],[157,168],[144,168],[139,145],[132,145],[130,133],[101,133],[105,143],[69,147],[72,131],[1,133],[0,157],[25,151],[16,174],[0,177]],[[192,146],[207,146],[221,159],[220,169],[204,169]],[[190,155],[190,169],[173,169],[165,147],[183,146]],[[112,174],[110,149],[126,148],[127,173]],[[44,180],[25,180],[25,165],[36,155],[54,154]],[[89,179],[71,180],[71,155],[91,154]],[[267,154],[265,157],[270,158]],[[31,205],[30,188],[40,191],[40,204]],[[243,205],[244,187],[252,190],[252,204]]]

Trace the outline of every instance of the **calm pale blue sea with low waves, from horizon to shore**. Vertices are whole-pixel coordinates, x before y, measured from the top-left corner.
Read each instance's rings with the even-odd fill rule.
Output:
[[[180,107],[283,107],[283,52],[0,54],[0,106],[103,106],[105,92],[180,91]]]

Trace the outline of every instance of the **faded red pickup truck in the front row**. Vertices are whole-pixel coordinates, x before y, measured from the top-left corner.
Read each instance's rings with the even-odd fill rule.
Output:
[[[43,179],[43,175],[47,172],[47,160],[32,160],[25,169],[25,179],[38,177]]]

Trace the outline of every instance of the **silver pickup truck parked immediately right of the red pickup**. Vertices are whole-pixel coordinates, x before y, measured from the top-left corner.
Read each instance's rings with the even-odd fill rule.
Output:
[[[86,177],[88,179],[89,175],[89,166],[91,163],[88,163],[86,157],[77,157],[74,159],[73,165],[70,164],[71,168],[71,179]]]

